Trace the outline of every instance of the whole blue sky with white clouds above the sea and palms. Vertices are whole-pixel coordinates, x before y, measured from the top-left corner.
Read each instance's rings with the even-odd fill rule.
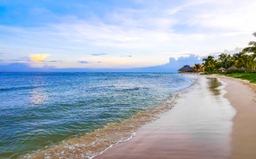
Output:
[[[255,8],[255,0],[0,0],[0,70],[146,68],[234,52],[254,40]]]

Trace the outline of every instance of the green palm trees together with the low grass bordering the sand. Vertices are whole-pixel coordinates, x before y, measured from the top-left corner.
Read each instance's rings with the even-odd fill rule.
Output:
[[[256,32],[253,33],[256,37]],[[220,54],[218,59],[214,56],[203,58],[205,74],[224,74],[234,78],[242,78],[256,83],[256,42],[249,42],[249,46],[236,54]],[[198,70],[199,64],[193,67]]]

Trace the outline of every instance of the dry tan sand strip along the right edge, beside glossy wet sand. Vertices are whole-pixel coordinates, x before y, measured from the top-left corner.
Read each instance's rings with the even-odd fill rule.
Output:
[[[228,83],[224,97],[236,109],[229,158],[256,158],[256,85],[241,79],[216,77]]]

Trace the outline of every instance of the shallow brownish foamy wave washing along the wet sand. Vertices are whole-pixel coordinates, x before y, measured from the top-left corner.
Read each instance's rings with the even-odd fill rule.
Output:
[[[94,158],[115,144],[131,139],[139,127],[157,119],[164,111],[170,110],[178,97],[179,93],[174,94],[161,105],[140,111],[123,122],[108,123],[104,128],[85,136],[65,140],[51,148],[26,154],[21,158]]]

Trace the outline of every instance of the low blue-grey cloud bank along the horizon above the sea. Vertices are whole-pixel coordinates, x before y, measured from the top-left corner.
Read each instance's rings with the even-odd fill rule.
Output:
[[[218,54],[212,54],[217,57]],[[42,66],[41,68],[34,68],[28,64],[13,63],[8,65],[0,65],[0,72],[177,72],[182,66],[189,64],[193,66],[195,63],[201,63],[201,59],[205,56],[197,56],[189,54],[189,56],[182,56],[178,59],[170,58],[166,64],[141,68],[54,68],[51,66]],[[82,64],[90,64],[87,61],[78,61]]]

